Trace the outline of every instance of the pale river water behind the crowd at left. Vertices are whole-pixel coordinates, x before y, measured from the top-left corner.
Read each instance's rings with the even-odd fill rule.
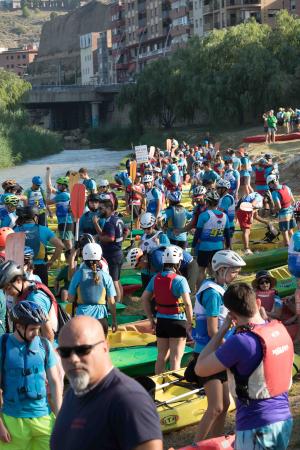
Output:
[[[86,167],[89,175],[99,181],[104,176],[112,175],[118,168],[121,159],[128,153],[129,150],[114,151],[104,148],[63,150],[55,155],[27,161],[20,166],[0,169],[0,182],[14,178],[23,188],[28,188],[35,175],[45,179],[47,166],[51,168],[52,182],[55,182],[55,178],[58,176],[65,175],[67,170],[78,170],[81,167]]]

